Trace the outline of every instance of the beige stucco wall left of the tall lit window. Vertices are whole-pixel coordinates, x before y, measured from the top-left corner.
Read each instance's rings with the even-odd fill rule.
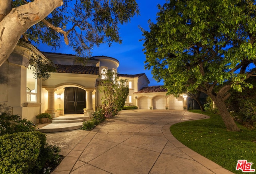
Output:
[[[37,123],[36,115],[40,112],[40,103],[27,107],[26,101],[28,56],[27,48],[16,46],[4,66],[0,67],[5,72],[1,73],[4,75],[4,78],[1,78],[1,90],[3,87],[4,94],[0,95],[0,103],[10,106],[12,113],[20,115],[22,119]]]

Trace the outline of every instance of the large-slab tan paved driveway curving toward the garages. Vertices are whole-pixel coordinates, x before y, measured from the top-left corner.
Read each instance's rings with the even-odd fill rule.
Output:
[[[52,174],[231,173],[170,132],[175,123],[206,117],[174,110],[121,111],[92,131],[47,133],[48,143],[66,156]]]

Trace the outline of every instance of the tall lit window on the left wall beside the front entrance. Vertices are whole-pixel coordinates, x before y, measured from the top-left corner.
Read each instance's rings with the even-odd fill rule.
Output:
[[[33,67],[27,68],[27,102],[37,102],[37,79],[34,78]]]

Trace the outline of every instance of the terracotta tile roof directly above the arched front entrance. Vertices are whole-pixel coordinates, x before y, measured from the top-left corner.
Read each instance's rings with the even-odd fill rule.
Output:
[[[83,66],[83,65],[56,65],[57,73],[73,73],[73,74],[93,74],[99,75],[99,67]]]

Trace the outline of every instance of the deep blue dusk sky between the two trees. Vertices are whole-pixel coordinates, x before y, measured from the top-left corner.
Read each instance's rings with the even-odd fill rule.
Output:
[[[142,49],[143,41],[142,32],[139,28],[141,26],[145,30],[148,28],[148,20],[152,22],[156,21],[156,13],[158,12],[157,4],[164,4],[165,0],[137,0],[140,9],[140,15],[134,16],[130,23],[120,25],[120,37],[122,38],[122,44],[112,43],[111,47],[108,44],[100,45],[100,47],[94,47],[92,50],[92,56],[104,55],[118,59],[120,65],[118,67],[118,73],[121,74],[138,74],[145,73],[148,77],[149,86],[163,85],[163,83],[157,83],[153,78],[150,70],[144,69],[144,61],[146,55],[144,55]],[[40,51],[52,52],[51,48],[46,46],[39,46]],[[63,44],[62,48],[54,51],[56,53],[75,54],[72,48]]]

